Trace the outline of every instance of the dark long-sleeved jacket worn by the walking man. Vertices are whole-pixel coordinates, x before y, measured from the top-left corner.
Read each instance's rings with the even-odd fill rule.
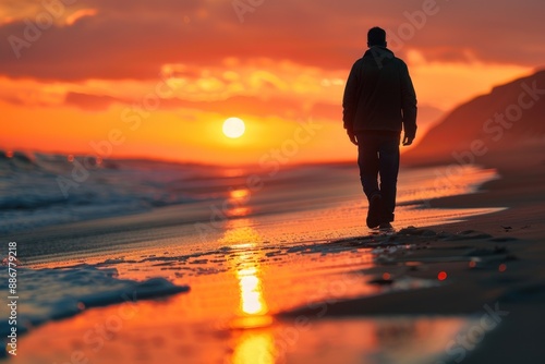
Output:
[[[404,130],[409,137],[416,134],[416,95],[409,70],[385,47],[371,47],[354,63],[342,108],[348,131]]]

